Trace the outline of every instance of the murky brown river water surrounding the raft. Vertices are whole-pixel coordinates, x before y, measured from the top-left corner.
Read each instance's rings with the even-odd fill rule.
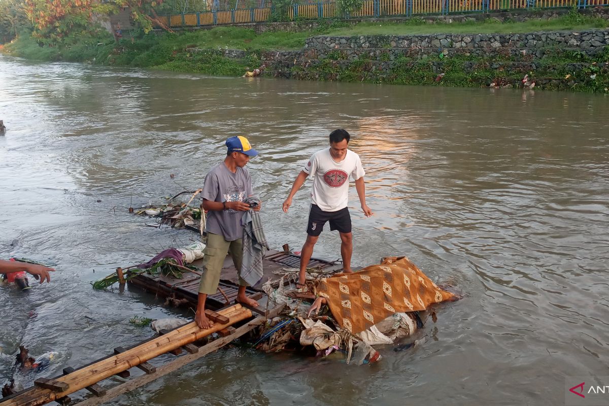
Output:
[[[594,94],[0,57],[0,257],[57,268],[27,293],[0,286],[1,383],[20,343],[60,353],[51,376],[150,337],[129,323],[135,315],[188,314],[89,282],[197,238],[147,227],[151,219],[127,208],[202,186],[228,136],[245,135],[260,152],[248,167],[270,245],[300,250],[308,191],[289,214],[281,203],[328,133],[346,128],[374,212],[364,217],[351,187],[353,264],[406,255],[465,297],[438,308],[422,345],[383,347],[373,365],[236,347],[112,404],[564,404],[572,376],[609,375],[608,114],[609,97]],[[315,256],[337,259],[339,248],[326,232]],[[34,378],[16,374],[24,385]]]

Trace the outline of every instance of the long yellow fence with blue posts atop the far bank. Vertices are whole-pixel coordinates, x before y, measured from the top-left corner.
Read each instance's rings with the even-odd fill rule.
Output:
[[[359,10],[347,18],[386,16],[448,15],[453,13],[489,13],[503,10],[554,9],[609,6],[609,0],[364,0]],[[221,24],[262,23],[268,21],[272,7],[233,9],[213,12],[160,16],[168,27],[199,27]],[[290,21],[297,19],[342,18],[336,2],[293,4],[287,10]]]

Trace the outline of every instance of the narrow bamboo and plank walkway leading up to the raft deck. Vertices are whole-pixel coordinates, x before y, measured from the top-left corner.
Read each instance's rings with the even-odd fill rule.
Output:
[[[161,331],[160,336],[144,341],[130,349],[121,347],[114,349],[114,354],[97,360],[79,369],[65,368],[63,375],[48,378],[38,378],[34,386],[19,393],[5,397],[1,406],[38,406],[52,401],[62,405],[71,403],[70,394],[86,389],[94,396],[77,402],[80,406],[99,405],[113,397],[135,388],[141,387],[158,377],[164,376],[189,362],[199,359],[209,352],[216,351],[236,338],[241,337],[256,326],[264,323],[267,318],[275,317],[281,309],[277,308],[266,315],[252,317],[252,311],[234,304],[225,309],[212,312],[208,310],[208,317],[214,321],[209,329],[200,329],[194,321],[177,327],[172,331]],[[244,322],[235,328],[233,324]],[[214,341],[202,346],[197,341],[213,333],[220,335]],[[155,367],[148,363],[160,355],[171,353],[178,355],[185,349],[189,354],[178,357],[163,366]],[[142,369],[146,374],[127,380],[116,387],[105,389],[99,385],[104,379],[117,375],[127,378],[128,369]]]

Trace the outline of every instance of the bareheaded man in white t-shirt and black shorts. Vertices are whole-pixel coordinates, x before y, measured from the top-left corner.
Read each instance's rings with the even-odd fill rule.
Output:
[[[353,253],[353,236],[351,234],[351,215],[347,208],[349,199],[349,176],[355,181],[357,196],[362,204],[366,217],[372,211],[366,205],[364,186],[364,168],[359,156],[348,150],[351,136],[346,130],[334,130],[330,133],[330,147],[316,152],[311,156],[306,166],[298,174],[292,185],[292,190],[283,202],[283,211],[287,213],[292,198],[305,183],[306,177],[314,177],[311,191],[311,211],[307,225],[305,245],[300,253],[300,273],[298,284],[305,283],[306,265],[313,254],[313,247],[322,233],[323,225],[330,223],[330,230],[338,230],[340,234],[340,255],[343,260],[343,270],[351,273],[351,254]]]

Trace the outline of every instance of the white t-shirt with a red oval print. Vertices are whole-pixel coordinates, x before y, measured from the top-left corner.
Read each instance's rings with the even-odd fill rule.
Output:
[[[329,147],[311,156],[303,170],[313,177],[311,203],[323,211],[338,211],[346,208],[349,200],[349,175],[358,180],[365,175],[362,161],[351,150],[345,159],[334,161]]]

